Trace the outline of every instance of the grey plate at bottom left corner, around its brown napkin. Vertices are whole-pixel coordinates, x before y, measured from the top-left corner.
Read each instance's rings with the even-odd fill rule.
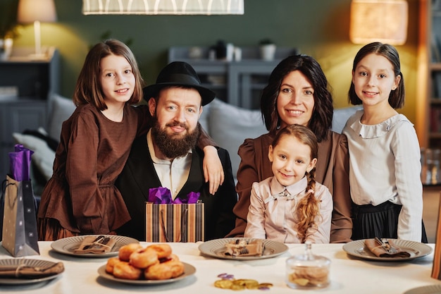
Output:
[[[25,264],[29,267],[51,267],[56,263],[48,262],[47,260],[40,260],[40,259],[21,259],[21,258],[0,259],[1,266],[18,266],[20,264]],[[30,283],[39,283],[43,281],[52,280],[53,278],[56,278],[58,275],[59,274],[54,274],[53,276],[45,276],[43,278],[0,278],[0,284],[23,285]]]

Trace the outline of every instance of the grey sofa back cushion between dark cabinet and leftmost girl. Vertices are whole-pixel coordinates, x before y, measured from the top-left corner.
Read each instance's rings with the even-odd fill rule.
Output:
[[[75,111],[75,104],[72,99],[62,97],[58,94],[52,94],[49,98],[50,102],[50,116],[49,116],[49,137],[53,137],[57,141],[60,140],[61,125],[66,121],[73,111]]]

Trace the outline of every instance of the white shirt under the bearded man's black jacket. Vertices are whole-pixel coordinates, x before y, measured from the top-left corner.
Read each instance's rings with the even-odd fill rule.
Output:
[[[149,152],[156,174],[158,175],[159,180],[161,180],[161,185],[170,190],[171,197],[175,200],[175,197],[184,186],[188,179],[188,175],[190,174],[190,167],[192,166],[192,149],[190,149],[184,157],[176,157],[171,161],[159,159],[155,155],[155,149],[151,139],[151,130],[147,133],[147,145],[149,146]]]

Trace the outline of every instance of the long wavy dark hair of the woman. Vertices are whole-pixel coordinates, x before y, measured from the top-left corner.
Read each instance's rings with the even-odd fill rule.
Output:
[[[292,71],[300,71],[311,82],[314,89],[314,109],[308,127],[316,134],[318,142],[321,142],[332,127],[333,96],[320,64],[311,56],[304,54],[283,59],[271,73],[268,85],[261,95],[261,113],[266,129],[274,135],[280,128],[277,99],[282,80]]]

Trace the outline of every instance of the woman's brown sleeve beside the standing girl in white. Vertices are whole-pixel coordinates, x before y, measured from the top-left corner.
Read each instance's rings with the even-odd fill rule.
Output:
[[[335,136],[338,136],[336,138]],[[333,163],[333,219],[330,243],[352,241],[352,200],[349,190],[349,150],[345,135],[333,134],[335,156]]]

